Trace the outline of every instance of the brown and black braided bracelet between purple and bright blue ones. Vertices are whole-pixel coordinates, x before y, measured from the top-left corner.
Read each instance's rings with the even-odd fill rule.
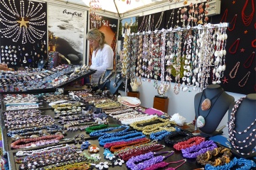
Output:
[[[223,155],[222,157],[215,159],[215,161],[210,161],[210,159],[212,159],[213,156],[216,157],[218,154],[223,154]],[[202,164],[204,166],[206,164],[210,164],[213,166],[220,166],[220,165],[229,163],[231,155],[232,154],[230,152],[230,149],[225,147],[217,147],[217,148],[214,148],[213,150],[207,151],[206,153],[199,154],[196,157],[196,161],[199,164]]]

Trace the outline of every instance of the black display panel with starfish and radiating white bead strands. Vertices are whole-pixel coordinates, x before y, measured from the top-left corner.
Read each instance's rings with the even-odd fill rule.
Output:
[[[38,67],[48,60],[46,3],[0,0],[0,5],[1,63]]]

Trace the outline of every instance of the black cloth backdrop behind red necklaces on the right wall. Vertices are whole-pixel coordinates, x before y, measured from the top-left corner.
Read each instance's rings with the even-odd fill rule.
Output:
[[[230,91],[238,94],[252,94],[256,92],[256,81],[255,81],[255,63],[256,62],[255,62],[255,57],[253,57],[253,55],[255,55],[255,53],[253,53],[255,52],[255,47],[252,47],[252,41],[255,40],[256,38],[255,12],[254,12],[254,15],[252,16],[253,18],[250,25],[245,26],[245,24],[242,22],[242,8],[244,8],[246,1],[247,1],[247,6],[245,7],[244,13],[245,13],[245,16],[250,16],[250,13],[252,13],[253,11],[252,3],[254,3],[254,6],[255,6],[256,5],[255,1],[251,1],[251,0],[235,1],[235,4],[233,4],[234,1],[221,1],[220,14],[215,16],[210,16],[208,20],[208,23],[217,24],[217,23],[220,23],[220,21],[223,18],[223,21],[221,21],[222,23],[224,22],[230,23],[230,26],[229,26],[230,29],[227,29],[228,39],[225,47],[225,50],[227,51],[227,54],[225,55],[226,69],[223,74],[223,77],[220,79],[221,80],[220,86],[222,86],[225,91]],[[186,7],[189,8],[188,6]],[[179,8],[174,9],[174,22],[173,22],[172,28],[174,28],[175,26],[180,26],[182,28],[183,23],[176,22],[178,17],[180,19],[181,13],[179,13],[179,16],[177,13],[177,11],[179,10],[180,10]],[[158,30],[161,30],[162,28],[166,29],[166,26],[168,26],[168,28],[171,27],[171,20],[169,21],[169,18],[171,16],[172,11],[173,9],[164,11],[164,16]],[[233,20],[233,18],[235,17],[235,14],[237,14],[236,21],[235,19]],[[161,16],[161,12],[152,13],[151,20],[153,18],[152,17],[153,15],[154,15],[153,30],[155,30],[156,23],[159,21],[159,17]],[[140,16],[138,18],[138,28],[143,24],[142,23],[143,18],[144,16]],[[146,16],[145,18],[149,18],[149,15]],[[168,21],[169,21],[169,24],[168,24]],[[234,23],[235,23],[235,27],[232,30]],[[185,21],[185,26],[187,26],[187,21]],[[146,29],[143,29],[140,32],[144,30]],[[236,45],[233,45],[233,43],[235,42],[235,40],[238,40],[238,38],[240,38],[240,42],[235,52]],[[256,43],[254,43],[254,45],[255,44]],[[229,51],[235,52],[235,54],[231,54]],[[238,72],[235,75],[235,78],[231,79],[229,76],[230,71],[233,69],[233,67],[235,67],[235,64],[238,62],[240,62]],[[250,72],[250,75],[247,79],[245,75],[247,75],[248,72]],[[210,73],[212,74],[212,72]],[[243,79],[244,77],[245,79]],[[226,79],[227,81],[224,81],[224,79]],[[247,79],[247,83],[245,84],[245,86],[240,86],[245,83],[246,79]],[[159,77],[159,80],[160,80],[160,77]],[[210,82],[211,84],[210,79],[208,80],[208,82]],[[240,82],[240,85],[239,85],[239,82]]]

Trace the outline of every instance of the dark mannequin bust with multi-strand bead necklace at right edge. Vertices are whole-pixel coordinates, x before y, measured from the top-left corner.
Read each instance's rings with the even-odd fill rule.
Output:
[[[228,136],[231,146],[240,155],[254,157],[256,154],[252,150],[256,145],[256,94],[247,94],[232,103],[228,110],[228,118]]]

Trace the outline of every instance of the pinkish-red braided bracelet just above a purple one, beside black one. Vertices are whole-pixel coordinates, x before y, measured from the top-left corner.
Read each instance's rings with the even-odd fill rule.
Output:
[[[188,140],[176,143],[174,145],[174,149],[176,149],[176,150],[186,149],[187,147],[192,147],[193,145],[198,145],[205,140],[206,140],[206,138],[204,138],[204,137],[198,137],[198,136],[191,137]]]

